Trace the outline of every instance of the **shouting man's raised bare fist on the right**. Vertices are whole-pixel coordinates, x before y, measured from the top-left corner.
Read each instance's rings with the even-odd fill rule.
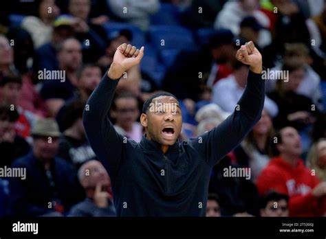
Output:
[[[254,73],[261,73],[263,70],[261,54],[257,48],[254,47],[252,41],[246,43],[246,45],[241,45],[240,49],[237,51],[236,58],[243,64],[250,65],[250,70]]]

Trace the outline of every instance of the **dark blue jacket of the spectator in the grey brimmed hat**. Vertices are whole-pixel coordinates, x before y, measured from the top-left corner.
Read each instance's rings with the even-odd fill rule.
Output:
[[[12,163],[12,168],[26,168],[25,179],[10,178],[10,207],[14,215],[41,216],[55,212],[56,202],[64,212],[83,200],[76,172],[69,163],[55,157],[50,163],[52,181],[49,180],[41,161],[32,152]],[[49,204],[50,203],[50,204]]]

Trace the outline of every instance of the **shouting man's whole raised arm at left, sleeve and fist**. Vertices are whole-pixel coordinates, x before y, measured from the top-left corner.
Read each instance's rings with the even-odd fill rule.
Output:
[[[125,43],[120,45],[114,54],[109,71],[89,97],[83,112],[83,123],[89,144],[109,170],[111,178],[115,177],[118,171],[124,139],[109,121],[109,109],[122,73],[138,65],[143,54],[144,48],[139,50]]]

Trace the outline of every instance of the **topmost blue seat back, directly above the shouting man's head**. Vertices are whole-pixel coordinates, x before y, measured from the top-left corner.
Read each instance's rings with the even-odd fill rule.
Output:
[[[160,10],[151,16],[151,25],[180,25],[180,12],[171,3],[161,3]]]

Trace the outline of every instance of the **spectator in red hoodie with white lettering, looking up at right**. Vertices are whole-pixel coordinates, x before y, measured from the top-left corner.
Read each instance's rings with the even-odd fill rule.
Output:
[[[289,196],[290,216],[322,216],[326,212],[326,183],[319,179],[300,159],[302,152],[298,131],[292,127],[276,133],[276,157],[257,179],[259,194],[275,190]]]

